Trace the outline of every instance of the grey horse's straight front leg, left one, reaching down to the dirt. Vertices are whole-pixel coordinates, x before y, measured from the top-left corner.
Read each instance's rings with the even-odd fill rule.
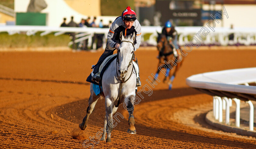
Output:
[[[112,110],[113,110],[113,101],[106,97],[105,99],[105,109],[106,109],[106,118],[107,118],[107,125],[106,125],[106,132],[107,132],[107,140],[106,142],[111,142],[111,132],[113,130],[113,117],[112,117]]]

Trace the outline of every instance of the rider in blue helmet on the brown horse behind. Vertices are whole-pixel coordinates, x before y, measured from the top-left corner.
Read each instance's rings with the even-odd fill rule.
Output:
[[[167,41],[170,41],[175,45],[176,49],[179,48],[179,46],[177,44],[178,33],[174,29],[174,26],[172,25],[172,23],[169,20],[167,22],[165,22],[165,26],[162,29],[162,34],[166,36]],[[172,44],[170,44],[170,46],[172,47],[172,49],[174,48],[172,46]]]

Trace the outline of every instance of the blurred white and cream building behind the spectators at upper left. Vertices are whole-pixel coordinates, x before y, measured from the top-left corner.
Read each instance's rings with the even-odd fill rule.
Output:
[[[109,20],[114,21],[116,16],[101,16],[100,0],[44,0],[47,7],[40,11],[46,15],[47,26],[60,26],[63,18],[67,18],[66,22],[70,21],[70,17],[74,16],[74,21],[79,23],[82,18],[97,17],[96,22],[103,19],[104,24],[108,24]],[[30,0],[14,0],[14,11],[18,13],[27,13],[27,8]],[[107,18],[107,19],[104,19]],[[18,19],[18,18],[17,18]],[[25,19],[21,16],[19,19]]]

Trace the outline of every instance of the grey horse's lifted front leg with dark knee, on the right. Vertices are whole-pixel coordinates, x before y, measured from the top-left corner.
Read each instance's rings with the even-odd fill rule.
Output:
[[[134,124],[135,124],[135,120],[134,120],[134,116],[133,116],[133,103],[134,103],[134,99],[135,99],[135,96],[134,95],[131,95],[129,96],[128,98],[126,98],[126,108],[127,108],[127,111],[129,112],[129,120],[128,120],[128,124],[129,124],[129,128],[127,130],[127,133],[130,133],[130,134],[136,134],[136,129],[134,127]]]

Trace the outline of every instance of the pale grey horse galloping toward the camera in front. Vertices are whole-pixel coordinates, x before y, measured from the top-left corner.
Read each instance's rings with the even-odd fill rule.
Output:
[[[102,133],[101,140],[105,141],[105,135],[107,132],[106,142],[111,142],[110,136],[112,129],[114,128],[113,114],[117,111],[119,102],[123,103],[123,107],[129,112],[129,129],[128,133],[135,134],[136,130],[134,127],[133,117],[133,103],[135,99],[136,89],[136,73],[133,69],[133,42],[136,34],[130,36],[123,36],[120,33],[121,43],[119,50],[117,51],[117,58],[110,63],[107,70],[104,72],[102,77],[102,90],[105,95],[105,121],[104,130]],[[94,106],[99,98],[104,98],[104,95],[100,93],[96,95],[93,91],[93,85],[90,86],[90,98],[89,106],[87,108],[87,114],[83,119],[83,122],[79,124],[81,130],[85,130],[86,124],[90,114],[94,110]]]

